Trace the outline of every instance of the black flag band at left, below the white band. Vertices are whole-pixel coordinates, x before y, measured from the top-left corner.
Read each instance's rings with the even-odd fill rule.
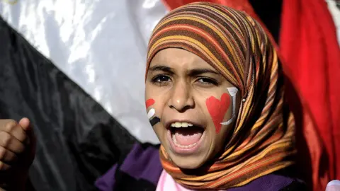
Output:
[[[0,119],[33,122],[35,190],[96,190],[137,140],[2,18],[0,44]]]

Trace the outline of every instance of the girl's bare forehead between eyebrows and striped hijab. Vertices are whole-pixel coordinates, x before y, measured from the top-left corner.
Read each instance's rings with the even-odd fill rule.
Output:
[[[167,48],[159,51],[152,59],[150,66],[159,64],[178,70],[200,67],[213,69],[208,62],[205,62],[202,58],[198,57],[198,55],[179,48]]]

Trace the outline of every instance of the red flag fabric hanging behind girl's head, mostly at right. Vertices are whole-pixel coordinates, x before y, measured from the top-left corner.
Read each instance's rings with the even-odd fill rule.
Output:
[[[195,2],[163,1],[169,10]],[[208,1],[245,11],[261,23],[248,0]],[[330,180],[340,179],[340,50],[336,28],[324,0],[283,0],[282,9],[280,47],[276,47],[290,79],[286,92],[297,128],[302,128],[298,132],[305,138],[297,139],[297,144],[303,148],[307,141],[309,151],[300,152],[311,158],[305,165],[312,168],[313,190],[324,190]],[[273,37],[271,40],[274,42]]]

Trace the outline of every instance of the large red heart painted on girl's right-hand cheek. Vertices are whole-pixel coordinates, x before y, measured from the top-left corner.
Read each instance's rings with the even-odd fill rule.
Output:
[[[230,96],[227,93],[223,93],[221,100],[218,100],[214,96],[210,96],[210,98],[205,100],[205,105],[207,105],[212,122],[214,122],[216,133],[219,133],[222,127],[221,122],[225,117],[225,112],[229,109]]]

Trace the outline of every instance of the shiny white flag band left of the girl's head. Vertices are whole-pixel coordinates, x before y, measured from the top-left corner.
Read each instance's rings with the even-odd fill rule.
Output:
[[[145,110],[149,35],[161,0],[8,0],[1,16],[140,141],[158,143]]]

